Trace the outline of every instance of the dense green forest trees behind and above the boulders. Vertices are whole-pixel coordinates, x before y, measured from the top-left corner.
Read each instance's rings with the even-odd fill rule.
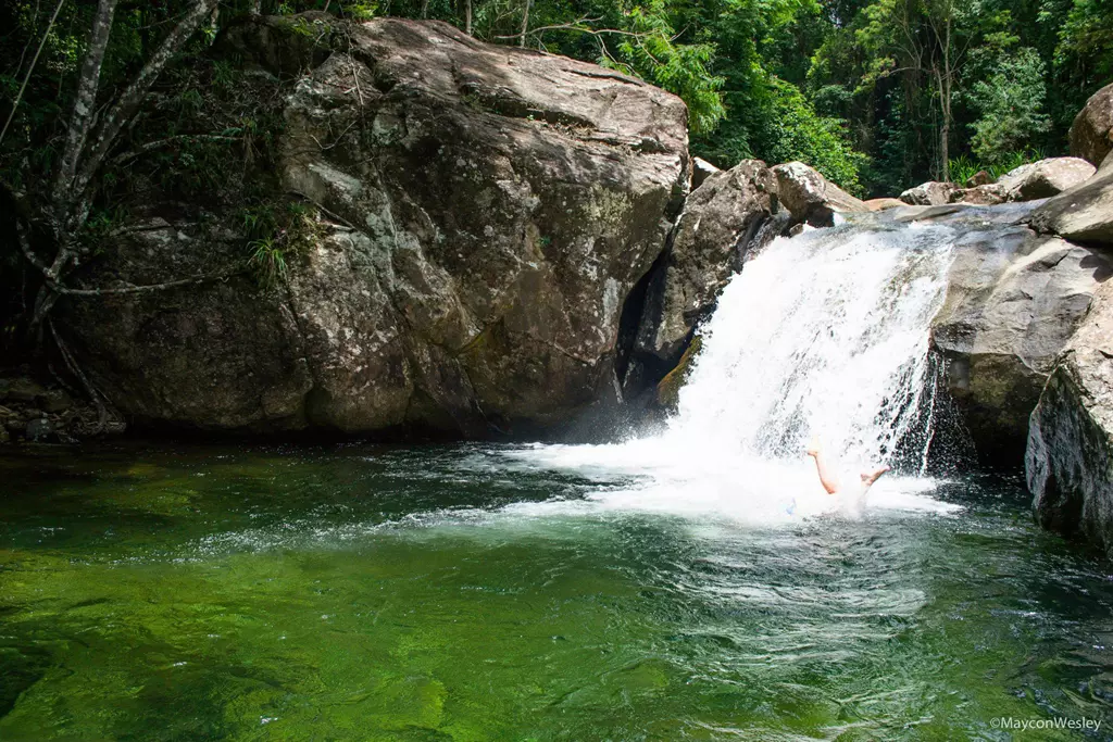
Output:
[[[188,4],[119,3],[102,97]],[[58,7],[0,10],[3,120],[50,24],[0,145],[9,182],[60,149],[97,3],[62,2],[51,24]],[[686,100],[696,155],[801,159],[858,195],[1060,154],[1074,113],[1113,79],[1110,0],[235,0],[194,43],[238,14],[323,9],[441,19],[637,75]]]

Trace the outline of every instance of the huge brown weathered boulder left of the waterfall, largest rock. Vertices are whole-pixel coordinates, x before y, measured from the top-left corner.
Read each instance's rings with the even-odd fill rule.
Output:
[[[238,27],[237,58],[277,75],[286,23]],[[687,189],[683,103],[440,22],[343,47],[285,101],[277,176],[315,214],[288,280],[71,303],[96,383],[155,423],[469,436],[613,396],[623,303]],[[236,216],[210,216],[151,205],[100,278],[242,261]]]

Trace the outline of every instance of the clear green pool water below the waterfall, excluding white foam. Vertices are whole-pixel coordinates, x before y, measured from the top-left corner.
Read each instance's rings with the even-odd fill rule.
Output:
[[[1016,482],[755,527],[505,451],[0,458],[0,740],[1110,736],[1109,564]]]

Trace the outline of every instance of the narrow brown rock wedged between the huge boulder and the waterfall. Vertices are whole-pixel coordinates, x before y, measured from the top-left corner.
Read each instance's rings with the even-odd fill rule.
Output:
[[[648,367],[657,378],[674,366],[696,323],[715,307],[746,251],[776,229],[778,179],[760,160],[742,160],[705,181],[684,206],[670,248],[654,268],[631,356],[632,378]],[[653,372],[658,373],[653,373]]]

